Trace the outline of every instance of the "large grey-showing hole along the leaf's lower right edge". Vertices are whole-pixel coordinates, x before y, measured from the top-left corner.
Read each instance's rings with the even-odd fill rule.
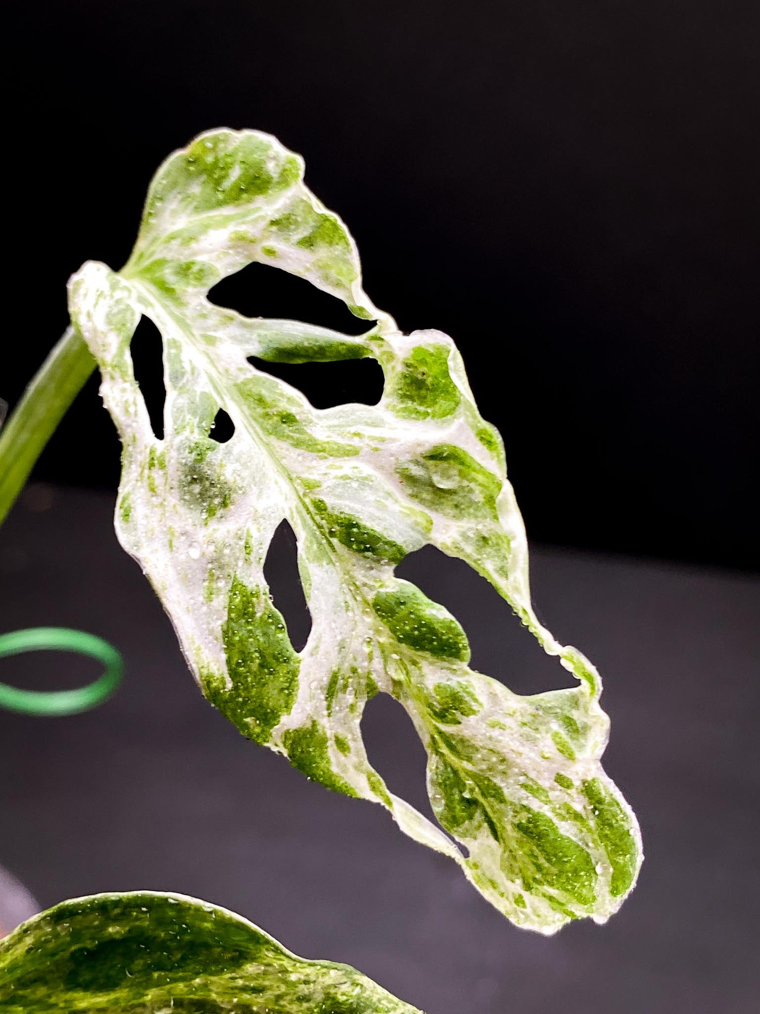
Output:
[[[410,553],[396,576],[417,585],[456,617],[470,642],[470,667],[493,676],[515,694],[577,686],[578,680],[547,655],[484,577],[434,546]]]

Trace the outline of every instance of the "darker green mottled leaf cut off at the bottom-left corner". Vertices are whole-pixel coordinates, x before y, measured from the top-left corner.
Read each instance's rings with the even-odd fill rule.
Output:
[[[0,941],[4,1014],[421,1014],[348,964],[307,961],[182,894],[63,901]]]

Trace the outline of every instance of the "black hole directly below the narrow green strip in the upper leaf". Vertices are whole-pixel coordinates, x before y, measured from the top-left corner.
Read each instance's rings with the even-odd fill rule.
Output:
[[[383,394],[383,369],[376,359],[343,359],[336,363],[265,363],[248,357],[251,366],[296,387],[315,409],[348,402],[377,405]]]

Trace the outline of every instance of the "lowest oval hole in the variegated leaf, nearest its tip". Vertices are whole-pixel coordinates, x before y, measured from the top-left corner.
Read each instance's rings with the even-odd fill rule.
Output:
[[[403,705],[389,694],[368,701],[362,715],[362,738],[370,764],[388,789],[437,823],[428,796],[428,754]]]

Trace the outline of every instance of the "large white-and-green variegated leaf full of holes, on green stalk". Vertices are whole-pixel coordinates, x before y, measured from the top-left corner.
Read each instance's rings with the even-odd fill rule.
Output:
[[[204,694],[244,735],[330,789],[382,803],[518,925],[551,933],[581,916],[604,921],[633,884],[640,841],[599,762],[608,734],[599,676],[535,617],[502,441],[451,339],[402,335],[373,305],[351,235],[302,176],[299,156],[272,137],[204,134],[159,169],[127,266],[88,263],[71,280],[72,319],[124,444],[119,537]],[[374,323],[352,337],[208,300],[254,261]],[[141,314],[163,336],[163,439],[130,357]],[[364,356],[382,366],[380,403],[324,411],[247,361]],[[220,407],[235,426],[223,444],[209,435]],[[312,618],[301,652],[263,575],[283,519],[298,538]],[[579,685],[520,697],[472,671],[457,621],[394,576],[426,544],[487,578]],[[378,691],[414,722],[443,829],[367,759],[360,722]]]

